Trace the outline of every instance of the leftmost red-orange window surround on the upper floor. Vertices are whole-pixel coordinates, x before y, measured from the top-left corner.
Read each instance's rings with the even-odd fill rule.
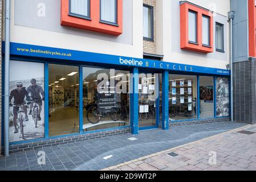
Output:
[[[68,15],[69,0],[62,0],[60,24],[62,26],[80,28],[115,36],[119,36],[123,33],[123,0],[117,0],[118,26],[100,23],[100,0],[91,0],[90,5],[91,20],[87,20]]]

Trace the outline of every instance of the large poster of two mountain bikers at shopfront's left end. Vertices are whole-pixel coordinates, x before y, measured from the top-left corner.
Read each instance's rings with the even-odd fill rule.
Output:
[[[44,64],[10,61],[10,142],[44,137]]]

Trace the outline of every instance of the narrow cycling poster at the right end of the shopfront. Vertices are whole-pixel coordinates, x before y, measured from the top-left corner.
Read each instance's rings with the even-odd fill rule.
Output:
[[[216,100],[217,116],[229,116],[229,78],[217,78]]]

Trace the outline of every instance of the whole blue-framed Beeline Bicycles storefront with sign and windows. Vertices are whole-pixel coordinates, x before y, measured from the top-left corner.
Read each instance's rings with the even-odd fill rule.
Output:
[[[32,78],[42,102],[19,108],[25,125],[13,121],[10,107],[11,144],[229,117],[229,71],[222,69],[11,43],[10,92],[17,81],[27,90]]]

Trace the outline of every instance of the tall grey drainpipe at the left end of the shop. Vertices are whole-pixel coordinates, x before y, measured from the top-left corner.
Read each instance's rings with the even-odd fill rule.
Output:
[[[10,0],[5,5],[5,156],[9,156],[9,63],[10,63]]]

